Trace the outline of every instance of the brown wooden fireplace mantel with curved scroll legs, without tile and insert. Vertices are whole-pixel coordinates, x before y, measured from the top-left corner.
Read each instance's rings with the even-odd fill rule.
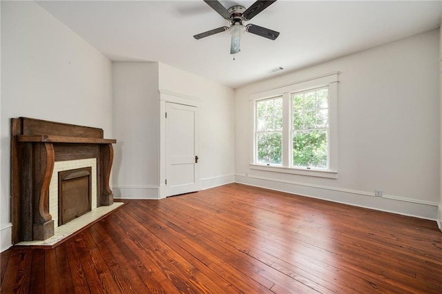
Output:
[[[54,235],[49,185],[55,161],[97,159],[97,206],[113,204],[109,178],[115,139],[87,126],[20,117],[11,119],[12,243]]]

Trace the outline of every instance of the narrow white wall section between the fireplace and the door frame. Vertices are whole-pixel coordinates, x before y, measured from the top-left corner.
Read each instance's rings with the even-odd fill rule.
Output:
[[[158,197],[159,97],[157,62],[113,62],[115,198]]]

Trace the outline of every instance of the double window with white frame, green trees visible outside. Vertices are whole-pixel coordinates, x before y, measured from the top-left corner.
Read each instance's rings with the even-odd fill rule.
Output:
[[[337,77],[251,95],[252,169],[337,177]]]

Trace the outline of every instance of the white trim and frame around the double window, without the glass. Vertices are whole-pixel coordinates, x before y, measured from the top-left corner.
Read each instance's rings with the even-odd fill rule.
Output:
[[[312,77],[301,81],[296,81],[293,84],[280,86],[279,88],[273,88],[263,92],[258,92],[249,96],[249,108],[252,117],[251,123],[251,149],[249,156],[249,166],[254,170],[266,170],[276,173],[289,173],[295,175],[307,175],[313,177],[327,177],[337,179],[338,177],[338,73],[331,72],[326,75],[320,75],[318,77]],[[282,153],[282,166],[256,164],[256,137],[255,137],[255,102],[261,99],[267,99],[271,97],[281,96],[285,99],[282,100],[284,120],[282,121],[283,130],[287,132],[290,125],[290,94],[293,92],[300,92],[304,90],[319,88],[322,86],[329,87],[329,167],[326,170],[314,169],[314,168],[299,168],[289,167],[290,159],[287,157],[287,151]],[[287,113],[286,113],[287,112]],[[287,136],[282,137],[283,150],[291,150],[291,142]]]

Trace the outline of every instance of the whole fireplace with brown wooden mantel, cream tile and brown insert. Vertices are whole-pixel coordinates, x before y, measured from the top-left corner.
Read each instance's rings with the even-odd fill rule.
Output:
[[[115,142],[99,128],[12,119],[12,242],[48,239],[55,227],[113,204]]]

